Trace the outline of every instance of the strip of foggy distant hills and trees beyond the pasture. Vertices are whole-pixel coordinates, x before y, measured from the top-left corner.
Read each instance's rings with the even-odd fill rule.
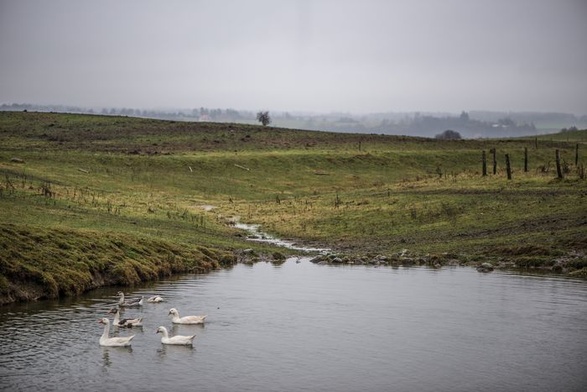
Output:
[[[66,105],[3,104],[3,111],[45,111],[146,117],[173,121],[259,124],[256,112],[236,109],[83,108]],[[462,111],[351,113],[271,112],[271,126],[317,131],[437,137],[447,130],[463,138],[503,138],[587,128],[587,115],[569,113]]]

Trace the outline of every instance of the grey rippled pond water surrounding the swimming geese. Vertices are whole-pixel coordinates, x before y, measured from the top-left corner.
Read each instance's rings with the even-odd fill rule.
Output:
[[[587,283],[472,268],[237,265],[127,293],[166,302],[103,348],[117,288],[0,307],[10,391],[585,391]],[[208,314],[204,326],[172,327]],[[110,317],[112,318],[112,317]],[[164,346],[159,325],[197,334]]]

